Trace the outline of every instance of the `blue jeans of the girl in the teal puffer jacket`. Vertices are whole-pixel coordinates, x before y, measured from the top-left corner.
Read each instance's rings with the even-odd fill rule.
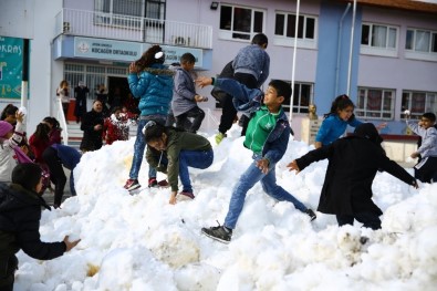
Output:
[[[138,121],[138,128],[136,129],[136,139],[134,145],[134,159],[132,160],[129,178],[131,179],[138,179],[139,168],[142,167],[143,157],[144,157],[144,149],[146,148],[146,142],[144,141],[143,135],[143,127],[149,121],[155,121],[158,123],[165,123],[165,116],[163,118],[150,118],[150,119],[139,119]],[[156,177],[156,169],[153,167],[148,167],[148,177],[153,178]]]

